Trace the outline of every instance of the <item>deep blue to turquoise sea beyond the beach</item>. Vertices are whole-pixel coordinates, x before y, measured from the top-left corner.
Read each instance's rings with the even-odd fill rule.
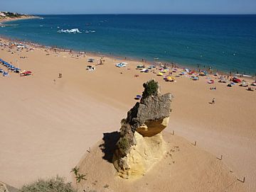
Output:
[[[0,35],[117,57],[256,74],[256,15],[46,15]],[[70,30],[80,33],[70,33]],[[58,32],[59,31],[59,32]]]

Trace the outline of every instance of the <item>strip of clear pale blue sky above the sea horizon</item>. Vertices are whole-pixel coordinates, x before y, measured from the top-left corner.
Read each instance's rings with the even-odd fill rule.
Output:
[[[0,0],[0,11],[28,14],[256,14],[256,0]]]

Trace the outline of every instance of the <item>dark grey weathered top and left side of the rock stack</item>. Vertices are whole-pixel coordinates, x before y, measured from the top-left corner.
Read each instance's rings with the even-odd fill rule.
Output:
[[[137,145],[135,132],[142,137],[153,137],[166,128],[171,113],[172,98],[171,94],[161,95],[159,84],[154,79],[144,84],[141,101],[128,111],[127,118],[121,122],[120,139],[114,155],[117,170],[129,169],[127,154],[132,146]]]

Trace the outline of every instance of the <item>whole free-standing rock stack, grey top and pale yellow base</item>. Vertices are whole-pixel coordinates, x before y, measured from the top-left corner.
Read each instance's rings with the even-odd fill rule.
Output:
[[[161,95],[154,79],[144,85],[142,99],[121,121],[113,163],[122,178],[142,176],[166,152],[161,131],[169,123],[171,94]]]

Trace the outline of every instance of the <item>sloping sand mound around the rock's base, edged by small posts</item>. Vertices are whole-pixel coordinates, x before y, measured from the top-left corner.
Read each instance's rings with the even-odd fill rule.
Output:
[[[86,180],[78,189],[90,191],[245,191],[242,183],[223,162],[187,140],[163,132],[167,152],[139,179],[121,179],[112,160],[118,132],[104,134],[103,140],[85,154],[78,167]]]

